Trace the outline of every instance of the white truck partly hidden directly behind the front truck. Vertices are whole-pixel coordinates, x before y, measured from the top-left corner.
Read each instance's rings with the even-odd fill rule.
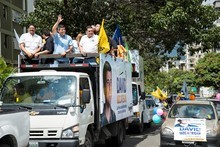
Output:
[[[144,130],[144,124],[150,123],[147,116],[147,107],[145,102],[144,86],[144,64],[143,58],[138,50],[130,50],[132,63],[132,95],[133,95],[133,116],[129,117],[129,129],[141,133]]]

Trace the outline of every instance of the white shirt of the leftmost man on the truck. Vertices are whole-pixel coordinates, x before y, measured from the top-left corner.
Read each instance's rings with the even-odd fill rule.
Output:
[[[30,33],[24,33],[19,39],[19,44],[21,43],[24,43],[24,46],[27,50],[29,50],[31,53],[34,53],[36,49],[42,47],[42,38],[37,34],[32,36]],[[24,55],[24,53],[21,52],[21,55]]]

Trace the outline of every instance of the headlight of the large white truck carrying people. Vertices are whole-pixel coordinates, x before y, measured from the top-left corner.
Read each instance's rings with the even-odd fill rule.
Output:
[[[63,130],[62,138],[73,138],[79,136],[79,126],[74,126]]]

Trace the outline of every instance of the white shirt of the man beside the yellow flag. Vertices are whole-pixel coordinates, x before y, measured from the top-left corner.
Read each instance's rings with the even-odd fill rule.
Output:
[[[84,35],[81,38],[79,45],[83,47],[85,53],[98,53],[98,36],[93,35],[88,38],[87,35]]]

